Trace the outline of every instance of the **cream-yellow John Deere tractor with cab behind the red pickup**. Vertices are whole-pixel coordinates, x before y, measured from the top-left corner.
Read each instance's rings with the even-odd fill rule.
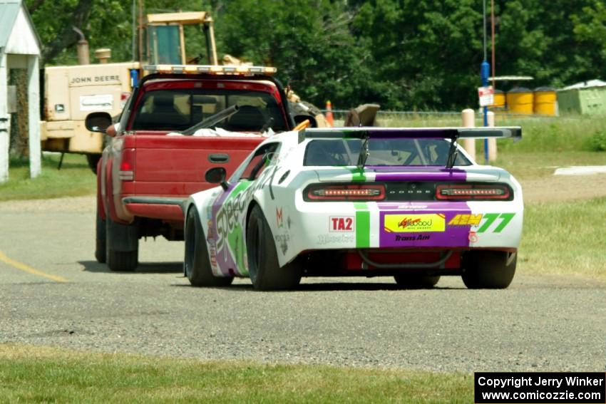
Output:
[[[205,49],[198,49],[198,55],[188,60],[185,29],[189,26],[201,27]],[[96,56],[99,63],[88,64],[88,43],[81,38],[81,64],[45,68],[41,85],[42,150],[84,154],[93,171],[103,150],[103,135],[86,130],[86,115],[94,111],[120,114],[147,64],[217,64],[212,17],[204,11],[148,14],[139,25],[138,61],[108,63],[109,49],[99,49]]]

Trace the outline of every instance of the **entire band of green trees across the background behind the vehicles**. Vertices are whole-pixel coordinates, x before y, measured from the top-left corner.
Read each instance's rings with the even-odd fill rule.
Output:
[[[77,63],[72,26],[91,49],[112,48],[114,61],[130,60],[132,0],[26,4],[47,63]],[[212,11],[220,54],[276,66],[281,81],[317,105],[477,104],[480,0],[145,0],[145,13],[178,9]],[[498,76],[533,76],[533,87],[605,76],[604,0],[495,0],[495,15]]]

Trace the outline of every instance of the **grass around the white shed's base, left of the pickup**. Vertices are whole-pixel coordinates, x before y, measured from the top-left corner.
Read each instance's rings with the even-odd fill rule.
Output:
[[[38,177],[29,177],[29,161],[11,158],[9,162],[9,181],[0,184],[0,201],[34,200],[57,197],[76,197],[94,195],[96,176],[93,174],[86,157],[66,154],[61,170],[57,170],[58,155],[42,158],[42,172]]]

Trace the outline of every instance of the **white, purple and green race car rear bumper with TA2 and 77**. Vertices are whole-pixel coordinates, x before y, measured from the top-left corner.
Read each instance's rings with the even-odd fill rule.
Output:
[[[277,209],[280,218],[274,238],[278,251],[283,253],[279,254],[281,264],[302,252],[316,250],[514,252],[522,234],[523,206],[516,200],[422,203],[299,200],[295,206],[294,212]]]

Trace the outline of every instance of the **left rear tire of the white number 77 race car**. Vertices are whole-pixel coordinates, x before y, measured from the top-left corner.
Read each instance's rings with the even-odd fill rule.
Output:
[[[299,260],[282,267],[278,263],[272,230],[259,205],[255,205],[248,218],[246,232],[248,272],[252,286],[260,291],[292,289],[301,281]]]

